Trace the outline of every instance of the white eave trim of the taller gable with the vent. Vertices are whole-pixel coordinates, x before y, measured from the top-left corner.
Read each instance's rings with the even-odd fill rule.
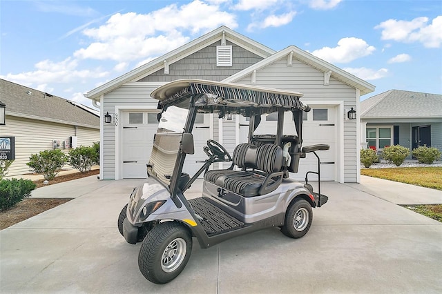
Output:
[[[180,48],[172,50],[171,52],[166,53],[161,57],[157,57],[156,59],[153,59],[152,61],[138,68],[135,68],[130,72],[127,72],[126,74],[119,76],[112,81],[109,81],[106,84],[103,84],[102,86],[90,90],[89,92],[84,94],[84,97],[98,100],[101,95],[104,95],[107,92],[111,92],[115,88],[118,88],[119,86],[122,86],[129,81],[137,81],[138,79],[142,79],[142,77],[150,75],[152,72],[164,68],[165,60],[168,61],[169,64],[174,63],[180,59],[183,59],[184,57],[193,54],[194,52],[197,52],[198,50],[201,50],[202,48],[205,48],[206,46],[215,43],[216,41],[220,41],[223,35],[225,39],[255,53],[260,57],[269,57],[276,52],[275,50],[272,50],[271,48],[268,48],[261,43],[253,41],[252,39],[249,39],[248,37],[245,37],[244,35],[241,35],[238,32],[227,28],[227,26],[220,26],[220,28],[211,31],[206,35],[202,35],[198,39],[186,43]]]

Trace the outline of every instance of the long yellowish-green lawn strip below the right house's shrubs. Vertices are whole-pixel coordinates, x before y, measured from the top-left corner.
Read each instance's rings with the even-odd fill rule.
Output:
[[[442,190],[442,167],[363,168],[361,175]]]

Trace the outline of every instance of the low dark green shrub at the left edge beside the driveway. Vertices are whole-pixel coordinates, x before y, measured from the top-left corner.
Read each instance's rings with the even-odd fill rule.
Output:
[[[2,179],[0,181],[0,210],[11,208],[29,197],[35,189],[35,183],[30,179]]]

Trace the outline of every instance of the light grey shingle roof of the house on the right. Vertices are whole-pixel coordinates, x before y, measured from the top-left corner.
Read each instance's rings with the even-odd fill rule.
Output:
[[[442,95],[389,90],[361,101],[361,118],[441,118]]]

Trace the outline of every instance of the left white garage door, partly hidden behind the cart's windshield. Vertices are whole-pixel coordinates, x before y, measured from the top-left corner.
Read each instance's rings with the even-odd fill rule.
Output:
[[[122,113],[122,160],[124,179],[147,177],[146,164],[157,131],[157,111],[128,111]],[[203,146],[211,136],[210,115],[198,114],[193,128],[195,154],[187,155],[183,173],[194,175],[207,159]]]

